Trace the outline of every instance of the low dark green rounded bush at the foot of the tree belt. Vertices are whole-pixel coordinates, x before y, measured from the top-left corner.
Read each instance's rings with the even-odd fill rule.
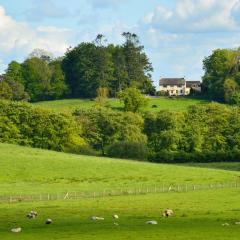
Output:
[[[115,158],[147,160],[148,148],[140,142],[117,142],[108,147],[107,153]]]

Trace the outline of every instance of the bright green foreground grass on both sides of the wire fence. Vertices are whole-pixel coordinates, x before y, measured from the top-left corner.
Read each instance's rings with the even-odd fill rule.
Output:
[[[196,166],[151,164],[77,156],[0,144],[0,192],[3,194],[93,191],[174,183],[220,183],[239,179],[231,171]],[[215,168],[218,164],[215,164]],[[207,167],[207,165],[205,165]],[[212,166],[210,166],[212,167]],[[0,204],[0,239],[4,240],[238,240],[240,189],[126,195],[96,199]],[[175,216],[161,217],[166,208]],[[39,216],[29,220],[26,214]],[[112,215],[118,214],[118,226]],[[93,222],[91,216],[104,221]],[[45,225],[47,218],[52,225]],[[148,220],[158,225],[146,225]],[[222,226],[228,223],[229,226]],[[19,234],[13,227],[22,227]]]

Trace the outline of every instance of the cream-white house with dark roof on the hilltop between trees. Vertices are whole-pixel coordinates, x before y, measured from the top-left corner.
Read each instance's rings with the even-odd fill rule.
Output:
[[[186,81],[185,78],[162,78],[159,82],[160,92],[169,96],[187,96],[191,89],[201,92],[200,81]]]

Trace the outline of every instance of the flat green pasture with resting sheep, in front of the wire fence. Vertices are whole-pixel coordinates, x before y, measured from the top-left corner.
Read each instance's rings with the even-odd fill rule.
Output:
[[[238,240],[239,196],[239,189],[219,189],[1,204],[0,236],[4,240]],[[161,216],[166,208],[173,209],[172,218]],[[26,218],[31,210],[38,212],[36,219]],[[114,220],[113,214],[118,214],[119,220]],[[105,220],[94,222],[91,216]],[[45,225],[47,218],[53,224]],[[158,221],[158,225],[147,225],[149,220]],[[229,225],[223,226],[225,223]],[[22,232],[11,233],[13,227],[22,227]]]

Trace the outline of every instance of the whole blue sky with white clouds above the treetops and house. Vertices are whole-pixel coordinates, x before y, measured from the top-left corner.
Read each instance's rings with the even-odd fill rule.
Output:
[[[240,0],[0,0],[0,73],[36,48],[61,56],[101,33],[134,32],[161,77],[201,80],[214,49],[240,46]]]

